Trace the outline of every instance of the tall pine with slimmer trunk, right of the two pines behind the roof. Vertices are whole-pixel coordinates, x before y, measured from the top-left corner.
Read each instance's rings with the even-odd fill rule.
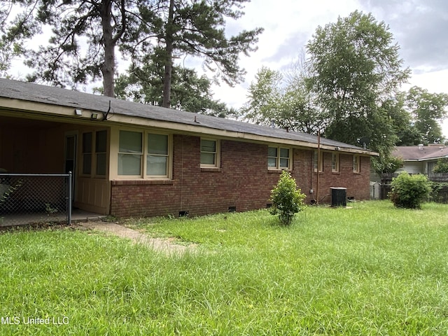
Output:
[[[174,57],[203,57],[204,67],[216,72],[217,78],[232,85],[239,83],[245,71],[238,66],[239,54],[256,50],[262,28],[241,31],[228,38],[225,18],[237,20],[249,0],[160,0],[155,12],[155,36],[158,48],[165,51],[162,106],[171,106],[171,77]]]

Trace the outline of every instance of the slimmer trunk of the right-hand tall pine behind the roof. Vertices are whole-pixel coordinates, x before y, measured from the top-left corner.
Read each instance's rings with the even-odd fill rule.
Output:
[[[163,77],[163,99],[162,106],[171,106],[171,77],[173,69],[173,18],[174,18],[174,0],[169,1],[169,13],[167,22],[167,36],[165,36],[165,74]]]

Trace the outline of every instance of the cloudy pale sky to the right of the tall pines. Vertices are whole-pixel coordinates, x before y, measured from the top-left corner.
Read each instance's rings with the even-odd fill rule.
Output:
[[[240,57],[239,64],[247,71],[244,83],[215,86],[214,98],[239,109],[258,69],[287,69],[318,26],[336,22],[354,10],[372,13],[388,25],[400,46],[403,65],[412,70],[403,90],[417,85],[428,92],[448,93],[447,0],[252,0],[246,3],[245,15],[228,22],[226,29],[237,34],[243,29],[265,28],[258,50]],[[442,128],[448,138],[448,120]]]

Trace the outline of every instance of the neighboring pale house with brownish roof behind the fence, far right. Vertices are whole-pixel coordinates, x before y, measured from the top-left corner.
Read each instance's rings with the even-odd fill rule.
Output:
[[[433,172],[438,159],[448,158],[448,148],[443,144],[398,146],[394,148],[392,156],[403,160],[403,167],[397,172],[428,175]]]

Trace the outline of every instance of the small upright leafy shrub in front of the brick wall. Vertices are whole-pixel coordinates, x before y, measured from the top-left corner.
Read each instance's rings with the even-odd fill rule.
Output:
[[[304,206],[305,197],[307,196],[297,189],[295,179],[290,176],[288,171],[283,170],[279,183],[271,190],[271,214],[278,214],[283,225],[290,225],[294,215]]]

